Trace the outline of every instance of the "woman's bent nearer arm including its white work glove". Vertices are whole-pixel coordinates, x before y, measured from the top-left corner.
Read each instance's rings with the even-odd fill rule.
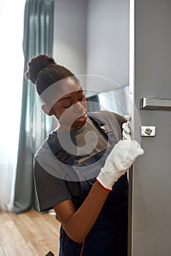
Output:
[[[107,156],[96,182],[82,206],[75,211],[72,200],[53,208],[64,230],[72,240],[81,243],[94,225],[113,184],[129,170],[137,157],[144,153],[136,140],[120,140]]]

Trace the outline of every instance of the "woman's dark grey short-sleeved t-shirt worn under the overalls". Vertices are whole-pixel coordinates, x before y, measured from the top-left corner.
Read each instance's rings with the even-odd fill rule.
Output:
[[[94,116],[107,124],[107,129],[113,131],[116,140],[121,139],[121,125],[126,121],[123,116],[106,110],[94,112]],[[107,136],[89,117],[83,127],[70,131],[69,135],[66,132],[51,132],[34,156],[34,182],[39,211],[47,211],[64,200],[73,199],[69,192],[70,181],[66,182],[66,177],[63,176],[64,169],[50,152],[48,141],[69,151],[78,162],[93,157],[108,146]],[[76,194],[79,194],[78,182]]]

